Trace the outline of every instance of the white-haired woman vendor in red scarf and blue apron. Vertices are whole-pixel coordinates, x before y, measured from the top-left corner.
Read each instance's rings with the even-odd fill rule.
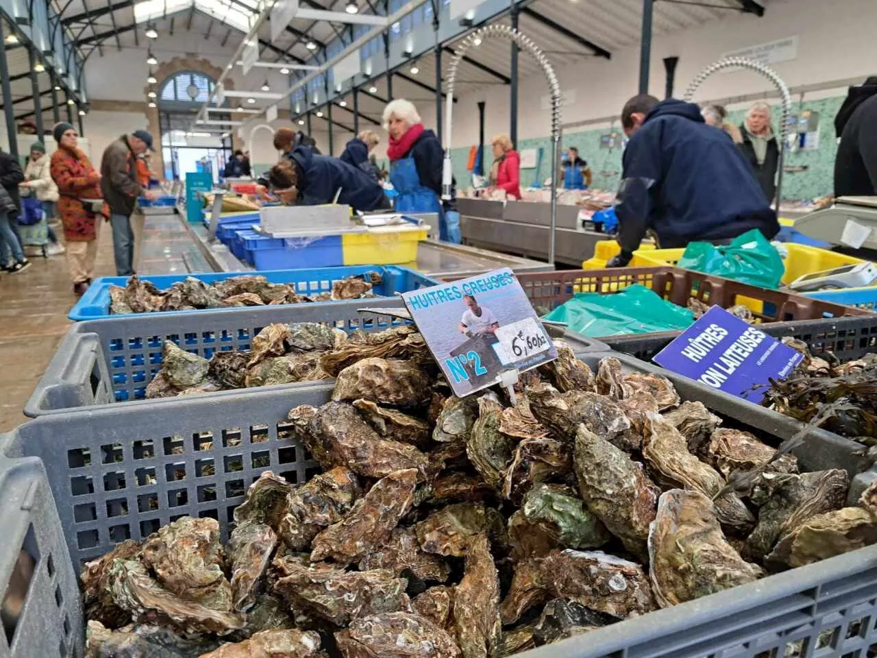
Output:
[[[435,132],[424,130],[417,108],[403,99],[383,111],[389,132],[389,180],[396,189],[394,208],[400,212],[438,212],[439,239],[460,244],[460,213],[453,201],[441,200],[444,152]]]

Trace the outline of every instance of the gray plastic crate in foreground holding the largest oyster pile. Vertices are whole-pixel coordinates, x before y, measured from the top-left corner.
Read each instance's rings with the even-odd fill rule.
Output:
[[[601,357],[582,356],[592,367]],[[651,369],[645,366],[624,359],[625,370]],[[44,461],[56,505],[33,507],[29,518],[10,513],[5,506],[0,510],[4,527],[8,526],[4,536],[12,541],[11,554],[21,547],[18,538],[27,533],[27,524],[54,526],[56,545],[66,540],[71,560],[56,559],[53,569],[65,571],[67,583],[75,580],[82,561],[129,537],[143,539],[182,515],[217,519],[225,540],[232,511],[262,471],[274,470],[296,483],[317,473],[303,448],[289,438],[286,418],[290,408],[322,404],[331,392],[332,386],[321,384],[229,397],[224,404],[192,398],[175,413],[168,413],[160,402],[147,401],[124,412],[107,406],[87,413],[46,415],[18,427],[0,437],[0,454]],[[694,382],[680,382],[679,392],[683,399],[700,400],[733,418],[729,425],[749,429],[766,440],[774,436],[775,443],[788,436],[784,426],[774,426],[769,411],[755,412],[752,405]],[[795,451],[802,468],[862,465],[852,441],[838,444],[831,440],[821,446],[824,442],[824,437],[813,433]],[[210,475],[205,475],[207,467],[213,471]],[[4,496],[0,503],[18,505],[6,500]],[[50,543],[46,545],[51,546],[52,535],[47,536]],[[39,549],[46,554],[42,545]],[[57,549],[53,552],[61,554]],[[10,554],[2,555],[0,583],[6,583]],[[82,647],[82,616],[73,614],[78,608],[65,609],[72,629],[66,653],[59,649],[56,634],[40,632],[47,618],[58,614],[56,602],[46,599],[40,592],[25,604],[18,633],[29,643],[14,643],[11,655],[15,658],[81,655],[77,652]],[[877,547],[869,547],[521,655],[774,658],[783,655],[788,643],[806,639],[808,648],[800,655],[864,658],[866,647],[877,645],[875,601]],[[847,639],[857,620],[862,621],[861,627]],[[824,633],[832,629],[837,632]],[[820,634],[827,644],[817,644]],[[833,648],[817,650],[817,646]]]

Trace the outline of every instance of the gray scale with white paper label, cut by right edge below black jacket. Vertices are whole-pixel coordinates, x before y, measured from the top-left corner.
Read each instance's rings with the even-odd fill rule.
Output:
[[[853,249],[877,249],[877,197],[838,197],[834,205],[795,219],[808,238]]]

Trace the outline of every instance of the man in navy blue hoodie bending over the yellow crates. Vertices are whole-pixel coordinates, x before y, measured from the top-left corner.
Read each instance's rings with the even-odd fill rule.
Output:
[[[621,123],[630,141],[615,206],[621,253],[610,268],[627,265],[649,229],[663,248],[780,231],[749,163],[697,105],[643,94],[624,105]]]

